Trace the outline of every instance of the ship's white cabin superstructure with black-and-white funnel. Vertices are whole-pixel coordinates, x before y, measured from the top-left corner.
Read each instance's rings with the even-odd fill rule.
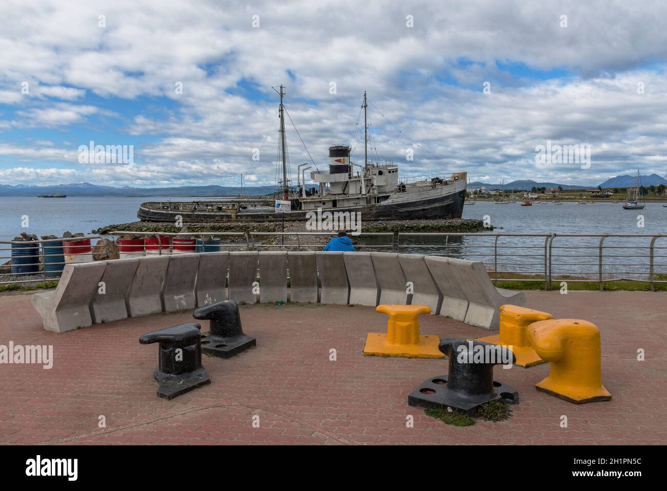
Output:
[[[387,161],[364,169],[363,165],[350,161],[348,145],[329,147],[329,170],[311,172],[310,177],[318,183],[318,193],[305,196],[303,191],[303,209],[382,203],[400,189],[398,165]]]

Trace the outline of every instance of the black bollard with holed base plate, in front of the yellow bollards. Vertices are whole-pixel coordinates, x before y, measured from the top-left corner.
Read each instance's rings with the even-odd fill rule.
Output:
[[[474,340],[442,340],[438,348],[449,358],[448,375],[424,381],[408,396],[408,405],[452,408],[473,416],[485,402],[518,404],[518,392],[494,380],[494,366],[516,361],[511,350]]]

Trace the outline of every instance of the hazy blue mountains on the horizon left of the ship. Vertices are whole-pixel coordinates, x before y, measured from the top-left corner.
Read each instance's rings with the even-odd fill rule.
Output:
[[[62,193],[68,196],[236,196],[273,193],[275,186],[179,186],[179,187],[111,187],[89,182],[57,184],[49,186],[15,186],[0,184],[0,196],[37,196]]]

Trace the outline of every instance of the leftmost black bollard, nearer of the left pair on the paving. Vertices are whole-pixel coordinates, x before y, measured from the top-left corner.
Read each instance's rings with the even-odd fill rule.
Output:
[[[139,338],[141,344],[159,343],[157,368],[157,395],[173,399],[199,386],[210,384],[206,369],[201,366],[199,324],[180,324],[149,332]]]

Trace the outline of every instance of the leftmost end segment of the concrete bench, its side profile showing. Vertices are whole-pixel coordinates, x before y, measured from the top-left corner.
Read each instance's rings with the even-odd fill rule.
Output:
[[[33,307],[47,331],[65,332],[91,326],[90,302],[107,267],[105,262],[65,264],[52,292],[33,294]]]

